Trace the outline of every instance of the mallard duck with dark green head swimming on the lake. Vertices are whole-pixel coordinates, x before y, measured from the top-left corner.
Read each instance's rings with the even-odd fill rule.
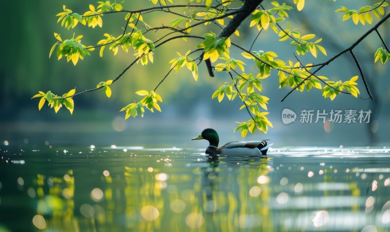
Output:
[[[268,148],[266,140],[248,142],[229,142],[222,147],[218,147],[219,136],[214,129],[207,128],[202,133],[191,140],[206,139],[210,145],[206,149],[208,155],[267,155]]]

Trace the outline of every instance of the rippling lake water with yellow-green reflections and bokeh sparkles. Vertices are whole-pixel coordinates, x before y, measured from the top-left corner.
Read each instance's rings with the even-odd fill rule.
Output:
[[[0,232],[390,231],[390,149],[0,147]]]

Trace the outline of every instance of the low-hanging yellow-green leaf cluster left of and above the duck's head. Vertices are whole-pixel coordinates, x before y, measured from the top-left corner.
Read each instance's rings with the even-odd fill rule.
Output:
[[[123,107],[120,111],[126,111],[125,119],[128,117],[136,117],[137,115],[143,117],[143,113],[145,112],[144,106],[148,108],[151,112],[154,112],[153,108],[161,112],[160,106],[158,105],[158,101],[162,102],[161,96],[155,93],[155,91],[151,91],[150,93],[146,90],[139,90],[136,92],[139,96],[145,96],[141,101],[136,103],[130,103],[129,105]]]

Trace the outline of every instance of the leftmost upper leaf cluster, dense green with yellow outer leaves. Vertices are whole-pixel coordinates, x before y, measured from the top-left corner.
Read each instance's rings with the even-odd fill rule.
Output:
[[[59,34],[54,33],[54,37],[58,39],[50,49],[49,58],[51,57],[54,49],[58,45],[57,48],[57,58],[61,59],[62,57],[66,57],[67,61],[72,60],[73,64],[76,66],[78,62],[78,58],[84,59],[85,55],[90,56],[89,51],[93,51],[95,48],[90,46],[85,46],[81,44],[81,38],[83,36],[78,36],[75,38],[75,34],[71,39],[62,40]]]

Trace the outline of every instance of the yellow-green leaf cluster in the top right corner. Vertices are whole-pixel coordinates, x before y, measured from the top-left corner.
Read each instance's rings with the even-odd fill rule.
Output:
[[[342,6],[340,9],[337,9],[336,12],[345,12],[343,21],[352,19],[353,23],[356,25],[359,22],[365,25],[366,22],[369,24],[372,23],[371,13],[376,16],[376,18],[380,19],[380,16],[385,14],[385,9],[383,7],[388,5],[389,3],[381,1],[374,4],[373,6],[364,6],[359,10],[350,10],[345,6]]]

